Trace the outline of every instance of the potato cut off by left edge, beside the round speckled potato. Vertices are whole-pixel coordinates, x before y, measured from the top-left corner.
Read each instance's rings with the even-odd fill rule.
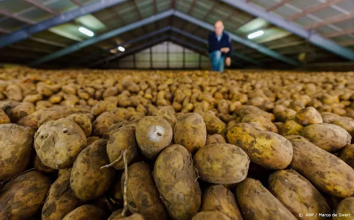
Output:
[[[0,182],[26,170],[34,133],[34,129],[16,124],[0,125]]]

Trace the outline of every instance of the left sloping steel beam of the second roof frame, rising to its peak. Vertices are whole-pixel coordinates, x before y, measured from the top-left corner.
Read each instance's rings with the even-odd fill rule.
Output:
[[[82,42],[78,42],[78,43],[73,44],[73,45],[71,45],[71,46],[69,46],[67,48],[58,50],[58,51],[56,51],[56,52],[54,52],[54,53],[52,53],[52,54],[50,54],[48,56],[44,56],[44,57],[42,57],[42,58],[40,58],[38,60],[35,60],[34,62],[31,62],[29,65],[30,66],[35,66],[35,65],[46,63],[46,62],[51,61],[53,59],[57,59],[59,57],[67,55],[69,53],[75,52],[75,51],[77,51],[79,49],[82,49],[82,48],[84,48],[86,46],[89,46],[89,45],[92,45],[92,44],[96,44],[98,42],[101,42],[103,40],[115,37],[117,35],[120,35],[120,34],[123,34],[125,32],[131,31],[133,29],[142,27],[142,26],[147,25],[147,24],[151,24],[151,23],[153,23],[153,22],[155,22],[157,20],[161,20],[161,19],[164,19],[166,17],[172,16],[173,12],[174,12],[174,10],[167,10],[167,11],[161,12],[159,14],[152,15],[151,17],[145,18],[143,20],[140,20],[140,21],[134,22],[132,24],[126,25],[124,27],[114,29],[114,30],[109,31],[107,33],[104,33],[102,35],[87,39],[87,40],[82,41]]]

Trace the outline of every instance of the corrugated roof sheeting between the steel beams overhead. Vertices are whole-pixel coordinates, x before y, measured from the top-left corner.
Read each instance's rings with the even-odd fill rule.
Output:
[[[0,1],[0,32],[18,30],[26,25],[51,18],[57,13],[63,13],[80,7],[81,5],[90,4],[95,0],[34,1],[40,4],[41,7],[28,3],[25,0]],[[337,0],[339,3],[321,8],[323,7],[323,4],[326,4],[327,2],[328,0],[249,0],[249,4],[255,4],[265,10],[272,8],[275,5],[279,5],[278,7],[272,8],[270,12],[284,18],[289,18],[303,27],[318,26],[318,28],[316,28],[316,32],[318,34],[321,34],[335,43],[353,50],[353,0]],[[92,15],[82,16],[66,24],[56,26],[53,29],[37,33],[33,35],[34,39],[32,40],[24,40],[0,49],[0,54],[4,55],[7,53],[11,57],[15,57],[16,54],[18,54],[18,60],[20,61],[33,61],[34,59],[40,58],[51,51],[54,52],[65,46],[70,46],[88,39],[88,36],[83,35],[78,31],[78,27],[80,26],[89,28],[94,31],[96,35],[100,35],[110,30],[150,17],[155,13],[169,10],[172,5],[171,0],[128,0],[124,3],[102,9]],[[224,21],[225,29],[227,31],[243,38],[247,38],[248,34],[261,29],[264,31],[264,34],[253,39],[253,42],[271,48],[294,59],[296,59],[298,53],[301,51],[306,51],[310,48],[316,53],[316,61],[319,59],[318,57],[322,57],[323,60],[328,57],[334,60],[343,60],[338,55],[329,53],[318,46],[308,46],[308,44],[305,43],[305,39],[281,28],[275,27],[266,20],[256,18],[251,14],[230,7],[229,5],[221,3],[217,0],[177,0],[175,5],[176,10],[189,13],[191,16],[210,24],[213,24],[216,20],[221,19]],[[49,10],[43,9],[42,6]],[[310,13],[304,13],[309,10],[309,8],[311,9]],[[7,14],[1,13],[1,11],[6,12]],[[334,20],[334,22],[328,23],[331,20]],[[90,53],[90,51],[100,51],[109,48],[114,44],[146,35],[149,32],[156,31],[168,25],[172,25],[173,27],[177,27],[203,39],[206,39],[209,33],[208,30],[198,27],[188,21],[176,17],[166,18],[146,25],[145,27],[131,30],[114,38],[80,49],[72,54],[59,58],[58,61],[60,60],[61,63],[68,57],[85,56]],[[5,33],[0,34],[0,36],[2,36]],[[187,42],[192,42],[200,47],[205,47],[205,49],[207,48],[205,44],[200,44],[182,36],[181,34],[172,32],[154,36],[153,38],[146,39],[140,43],[134,43],[127,46],[127,48],[130,46],[135,47],[149,40],[166,35],[174,36]],[[252,48],[236,42],[234,42],[233,45],[237,51],[247,54],[250,57],[274,62],[273,58],[269,58]],[[31,51],[33,52],[32,57],[30,56]],[[109,53],[106,53],[101,56],[104,57],[107,56],[107,54],[109,55]],[[3,56],[0,55],[0,62],[1,61],[3,61]],[[55,64],[56,61],[54,60],[50,63]]]

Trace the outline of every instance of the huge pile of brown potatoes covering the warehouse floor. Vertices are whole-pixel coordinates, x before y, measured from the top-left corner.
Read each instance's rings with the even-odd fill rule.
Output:
[[[0,69],[0,219],[350,220],[353,136],[354,72]]]

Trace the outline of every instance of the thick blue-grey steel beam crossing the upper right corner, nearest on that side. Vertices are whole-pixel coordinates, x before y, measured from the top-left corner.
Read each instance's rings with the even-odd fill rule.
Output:
[[[244,1],[241,0],[237,0],[237,1],[221,0],[221,1],[235,8],[239,8],[245,12],[253,14],[253,16],[261,17],[278,27],[281,27],[293,34],[303,37],[304,39],[306,39],[312,44],[315,44],[332,53],[335,53],[339,56],[354,61],[354,52],[352,50],[345,48],[339,44],[336,44],[333,41],[328,40],[317,33],[310,32],[294,22],[287,21],[283,17],[269,13],[260,7],[256,7],[256,5],[254,4],[245,3]]]

